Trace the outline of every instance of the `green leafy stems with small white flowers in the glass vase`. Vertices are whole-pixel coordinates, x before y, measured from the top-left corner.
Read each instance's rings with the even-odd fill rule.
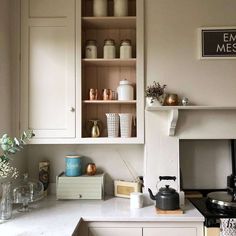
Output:
[[[27,141],[33,136],[33,131],[27,130],[24,131],[19,138],[11,138],[7,134],[4,134],[2,138],[0,138],[0,147],[3,152],[3,154],[0,155],[0,178],[17,177],[17,169],[11,167],[9,163],[9,161],[11,160],[11,155],[14,155],[17,152],[21,151]]]

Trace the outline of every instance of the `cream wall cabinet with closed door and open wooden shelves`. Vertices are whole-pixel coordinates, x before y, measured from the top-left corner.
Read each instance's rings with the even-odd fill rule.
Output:
[[[31,128],[31,143],[143,143],[143,0],[128,0],[128,16],[94,17],[91,0],[23,0],[21,22],[21,130]],[[107,38],[116,58],[103,58]],[[85,58],[87,40],[96,40],[98,58]],[[130,39],[132,58],[119,59],[119,44]],[[119,81],[134,86],[134,100],[102,100],[103,89]],[[98,100],[89,100],[96,88]],[[132,137],[108,138],[106,113],[132,113]],[[91,120],[101,135],[91,137]]]

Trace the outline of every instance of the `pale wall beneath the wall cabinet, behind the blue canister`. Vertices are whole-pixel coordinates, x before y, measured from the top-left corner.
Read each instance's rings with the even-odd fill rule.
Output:
[[[28,168],[32,177],[38,176],[38,163],[50,161],[50,182],[65,170],[65,156],[82,156],[83,170],[89,162],[106,173],[105,192],[113,194],[113,181],[134,180],[143,175],[143,145],[30,145],[28,147]],[[123,162],[124,160],[124,162]],[[127,168],[127,166],[128,168]]]

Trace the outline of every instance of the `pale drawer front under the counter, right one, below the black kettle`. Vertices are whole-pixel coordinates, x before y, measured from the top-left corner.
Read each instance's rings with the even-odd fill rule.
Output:
[[[143,236],[196,236],[196,228],[144,228]]]

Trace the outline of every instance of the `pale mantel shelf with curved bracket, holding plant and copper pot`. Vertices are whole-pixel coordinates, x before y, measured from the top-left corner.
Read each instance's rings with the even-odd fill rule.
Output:
[[[235,106],[146,106],[147,111],[169,111],[168,135],[174,136],[180,110],[236,110]]]

